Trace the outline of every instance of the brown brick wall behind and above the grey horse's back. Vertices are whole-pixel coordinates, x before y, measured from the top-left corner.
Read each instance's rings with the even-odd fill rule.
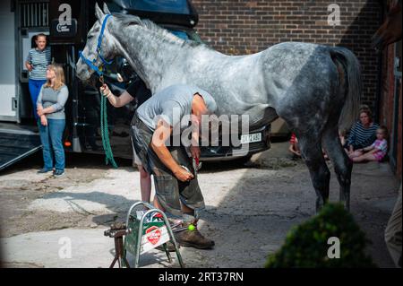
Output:
[[[363,103],[374,108],[378,57],[371,37],[381,25],[377,0],[193,0],[197,30],[212,48],[241,55],[284,41],[303,41],[350,48],[362,65]],[[339,4],[340,25],[328,25],[329,4]]]

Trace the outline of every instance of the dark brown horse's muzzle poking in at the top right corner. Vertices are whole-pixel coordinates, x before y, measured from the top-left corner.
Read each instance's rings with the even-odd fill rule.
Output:
[[[381,52],[384,47],[401,39],[401,0],[392,1],[392,8],[382,23],[382,26],[373,35],[373,48]]]

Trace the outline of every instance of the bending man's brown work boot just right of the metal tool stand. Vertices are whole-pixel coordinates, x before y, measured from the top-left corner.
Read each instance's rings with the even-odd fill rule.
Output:
[[[175,232],[176,241],[182,247],[195,247],[199,249],[211,249],[215,243],[209,238],[204,238],[199,230],[197,230],[197,224],[195,222],[183,222],[182,227]]]

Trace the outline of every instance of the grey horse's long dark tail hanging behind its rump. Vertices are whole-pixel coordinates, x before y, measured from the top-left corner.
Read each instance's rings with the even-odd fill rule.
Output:
[[[353,125],[358,116],[361,92],[363,89],[360,63],[356,56],[347,48],[330,48],[330,56],[343,66],[345,73],[345,103],[339,117],[339,129]],[[341,80],[340,80],[341,82]]]

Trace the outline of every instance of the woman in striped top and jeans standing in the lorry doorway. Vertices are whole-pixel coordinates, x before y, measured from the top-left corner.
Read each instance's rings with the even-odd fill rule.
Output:
[[[38,34],[35,36],[36,48],[28,52],[25,66],[30,72],[28,87],[30,89],[30,100],[34,110],[35,119],[38,121],[37,100],[40,88],[47,82],[47,65],[50,65],[50,47],[47,47],[47,35]]]

